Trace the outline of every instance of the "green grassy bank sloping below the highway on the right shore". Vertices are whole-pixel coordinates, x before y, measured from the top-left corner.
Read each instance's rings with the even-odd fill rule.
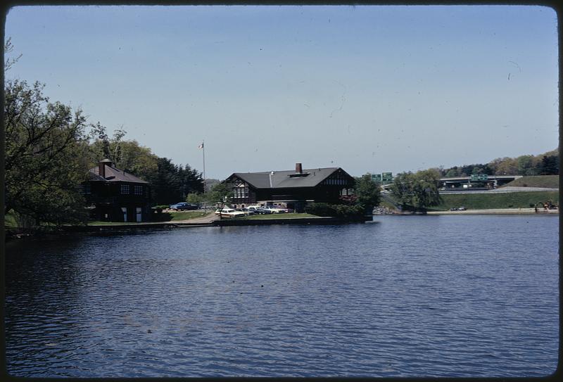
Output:
[[[450,208],[465,207],[470,210],[484,210],[490,208],[530,208],[543,201],[551,200],[559,204],[557,191],[530,191],[511,193],[468,193],[442,195],[442,203],[429,210],[445,211]]]

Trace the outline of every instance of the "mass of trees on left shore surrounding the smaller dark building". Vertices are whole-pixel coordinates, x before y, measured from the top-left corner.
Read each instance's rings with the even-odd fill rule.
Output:
[[[4,52],[11,51],[8,38]],[[6,58],[5,72],[20,56]],[[177,203],[203,191],[201,172],[125,140],[124,129],[108,136],[100,122],[88,124],[82,110],[51,102],[43,91],[39,82],[4,82],[3,212],[14,212],[20,226],[85,222],[80,184],[88,179],[88,170],[106,158],[153,184],[153,203]]]

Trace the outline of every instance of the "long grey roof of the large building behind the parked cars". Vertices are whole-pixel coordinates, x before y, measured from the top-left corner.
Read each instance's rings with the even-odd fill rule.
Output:
[[[314,187],[327,179],[340,167],[312,168],[303,170],[301,174],[294,170],[271,171],[271,172],[235,172],[231,177],[236,176],[243,181],[251,184],[257,189],[281,189],[291,187]],[[344,170],[342,170],[347,174]]]

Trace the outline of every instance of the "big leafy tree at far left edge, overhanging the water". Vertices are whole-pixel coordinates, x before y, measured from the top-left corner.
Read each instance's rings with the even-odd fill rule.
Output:
[[[13,210],[34,224],[82,222],[86,179],[85,117],[49,102],[44,85],[8,80],[4,84],[4,213]]]

